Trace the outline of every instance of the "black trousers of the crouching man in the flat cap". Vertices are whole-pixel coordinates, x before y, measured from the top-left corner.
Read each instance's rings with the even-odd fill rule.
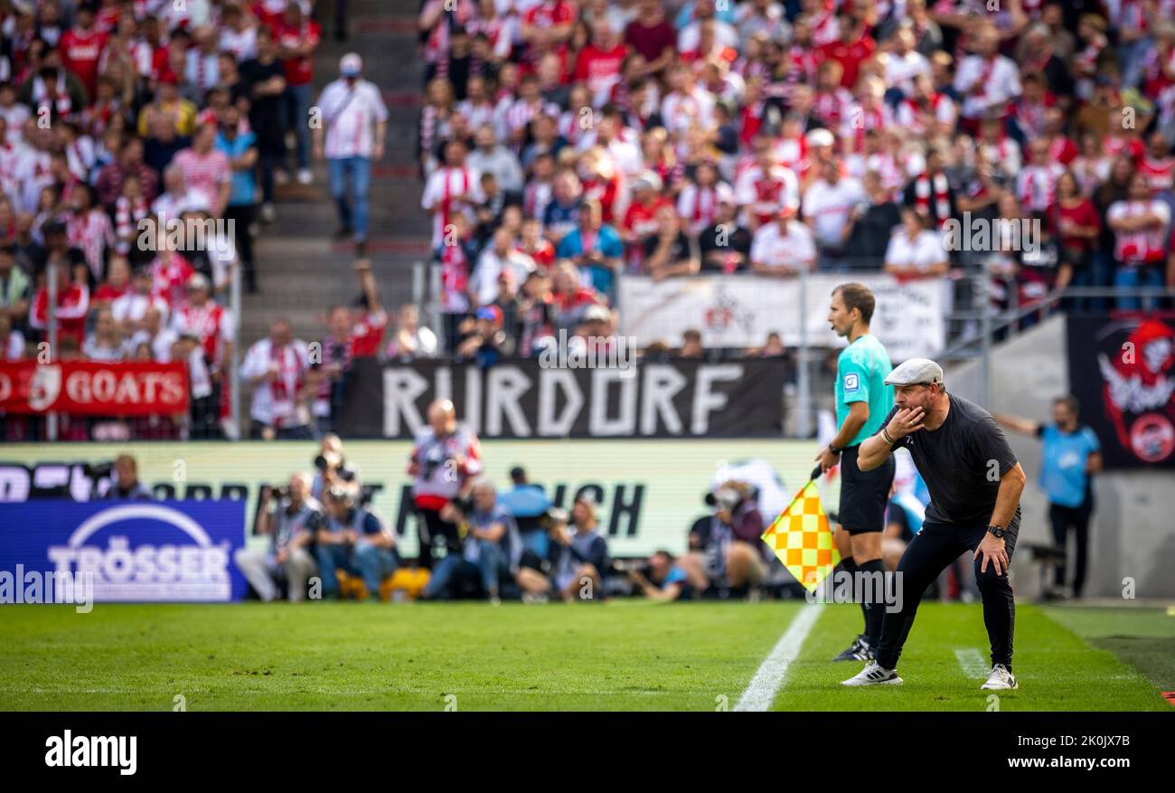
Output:
[[[1020,510],[1008,526],[1003,538],[1012,559],[1020,531]],[[918,605],[926,593],[926,587],[939,577],[952,562],[965,551],[974,551],[987,533],[987,524],[959,525],[927,520],[921,531],[906,546],[906,552],[898,563],[894,576],[894,593],[900,594],[901,609],[886,611],[881,623],[881,645],[878,647],[877,661],[887,670],[898,667],[898,658],[914,626]],[[1012,633],[1015,626],[1016,603],[1008,582],[1008,571],[995,574],[991,563],[987,572],[980,572],[982,558],[975,559],[975,583],[983,598],[983,625],[992,644],[992,664],[1003,664],[1012,668]]]

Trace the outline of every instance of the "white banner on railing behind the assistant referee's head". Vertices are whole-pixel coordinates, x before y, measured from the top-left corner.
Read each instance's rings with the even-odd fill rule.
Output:
[[[828,327],[828,303],[832,290],[851,281],[864,283],[877,296],[871,329],[895,363],[932,358],[944,349],[951,282],[899,282],[891,275],[810,275],[805,297],[810,345],[845,345]],[[713,275],[654,283],[645,276],[624,276],[619,283],[620,330],[637,347],[657,341],[678,347],[690,328],[701,331],[705,347],[761,347],[772,331],[786,347],[797,347],[799,305],[799,278]]]

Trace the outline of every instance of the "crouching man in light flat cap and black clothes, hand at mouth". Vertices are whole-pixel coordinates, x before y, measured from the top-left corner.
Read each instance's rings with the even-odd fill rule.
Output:
[[[898,564],[895,604],[881,625],[877,660],[842,685],[900,684],[898,658],[926,587],[965,551],[973,551],[983,624],[992,643],[992,674],[981,688],[1015,688],[1012,632],[1015,598],[1008,564],[1020,529],[1025,473],[991,414],[947,394],[942,368],[911,358],[886,378],[894,408],[858,451],[862,471],[881,465],[894,449],[909,450],[931,503],[921,530]]]

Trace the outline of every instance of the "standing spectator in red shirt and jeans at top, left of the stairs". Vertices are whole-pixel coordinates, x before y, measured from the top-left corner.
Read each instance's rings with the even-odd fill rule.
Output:
[[[281,21],[273,27],[277,56],[286,67],[286,93],[282,94],[286,128],[291,129],[297,140],[297,181],[298,184],[311,184],[314,175],[310,173],[310,127],[307,120],[314,90],[314,53],[322,41],[322,28],[302,14],[298,2],[287,5]]]

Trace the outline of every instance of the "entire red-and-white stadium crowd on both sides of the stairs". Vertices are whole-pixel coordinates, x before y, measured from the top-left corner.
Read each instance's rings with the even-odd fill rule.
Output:
[[[606,348],[624,274],[889,271],[960,291],[986,274],[1000,307],[1067,285],[1171,287],[1170,0],[988,5],[424,0],[418,155],[441,323],[425,327],[418,305],[385,313],[364,285],[362,304],[327,313],[316,343],[333,356],[311,362],[278,328],[242,356],[264,387],[251,435],[329,430],[357,356],[492,365],[560,330]],[[316,12],[0,0],[0,354],[41,351],[52,263],[53,356],[182,361],[193,390],[188,416],[61,416],[59,437],[235,435],[226,289],[237,266],[255,288],[251,240],[275,216],[275,186],[314,179],[322,141],[300,120],[321,82]],[[343,61],[354,79],[356,59]],[[341,85],[327,93],[350,98]],[[341,231],[361,253],[387,114],[372,86],[336,108],[374,113],[355,127],[362,145],[325,142]],[[958,250],[944,230],[965,217],[1040,221],[1040,244]],[[166,234],[173,221],[206,234]],[[41,424],[0,422],[8,439]]]

